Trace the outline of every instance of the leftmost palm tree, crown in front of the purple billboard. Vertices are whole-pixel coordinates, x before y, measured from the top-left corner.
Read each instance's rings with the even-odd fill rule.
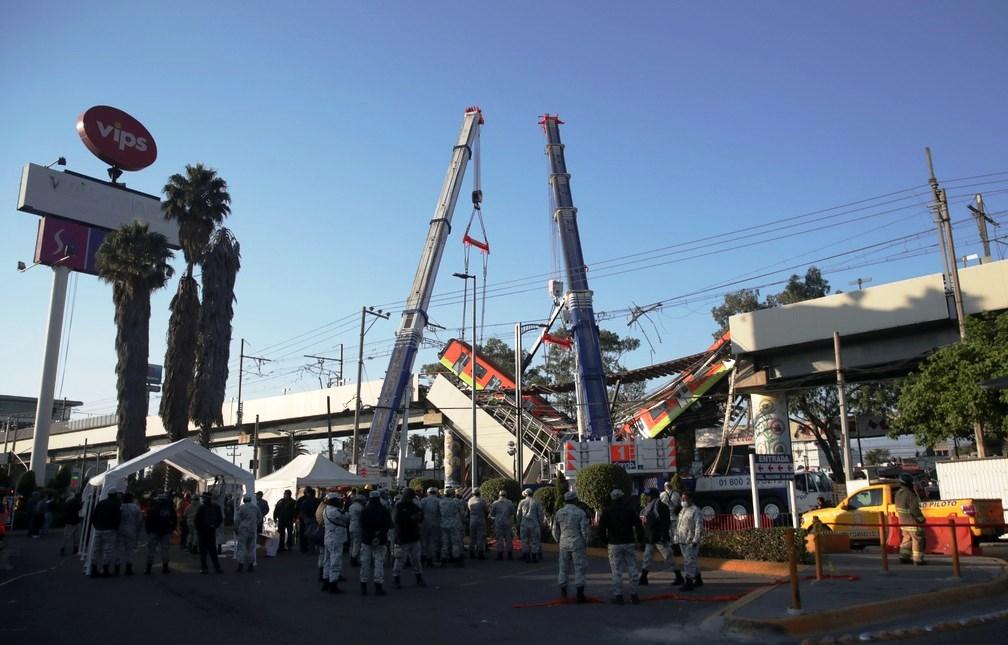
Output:
[[[150,346],[150,293],[174,270],[168,242],[142,222],[113,231],[98,249],[98,275],[112,283],[116,306],[116,390],[120,462],[147,449],[147,360]]]

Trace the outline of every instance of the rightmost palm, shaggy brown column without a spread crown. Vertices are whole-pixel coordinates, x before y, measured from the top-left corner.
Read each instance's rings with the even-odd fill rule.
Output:
[[[196,354],[196,383],[190,418],[200,426],[200,441],[210,447],[210,428],[222,425],[221,407],[228,384],[231,320],[234,317],[235,279],[241,268],[241,248],[228,229],[219,229],[203,258],[203,305]]]

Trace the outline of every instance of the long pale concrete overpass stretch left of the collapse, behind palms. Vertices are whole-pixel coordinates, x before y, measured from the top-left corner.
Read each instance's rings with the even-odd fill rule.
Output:
[[[382,381],[368,381],[361,384],[360,428],[363,436],[371,428],[371,415],[381,392]],[[332,406],[334,437],[352,436],[354,432],[354,400],[356,385],[343,385],[307,392],[296,392],[261,399],[249,399],[243,403],[242,431],[251,433],[256,415],[259,415],[259,441],[263,444],[289,440],[290,432],[298,439],[326,438],[328,432],[326,398]],[[440,423],[440,415],[428,413],[427,405],[420,400],[416,377],[409,389],[409,427],[411,429],[429,427]],[[240,441],[235,427],[238,412],[236,403],[229,403],[222,409],[224,425],[215,427],[212,433],[214,446],[233,445]],[[49,435],[49,462],[71,462],[81,458],[87,441],[88,452],[94,459],[98,453],[103,458],[116,456],[116,417],[107,414],[87,419],[52,424]],[[33,428],[12,431],[8,450],[25,462],[31,453]],[[199,436],[199,429],[190,424],[190,434]],[[151,445],[167,442],[167,434],[160,417],[147,417],[147,440]]]

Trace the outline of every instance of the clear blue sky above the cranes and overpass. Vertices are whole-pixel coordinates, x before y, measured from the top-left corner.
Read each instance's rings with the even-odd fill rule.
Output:
[[[36,228],[14,208],[20,170],[64,155],[104,176],[74,130],[93,105],[126,110],[157,140],[157,162],[124,177],[131,187],[159,192],[197,161],[228,180],[243,256],[233,365],[242,337],[274,359],[246,380],[247,396],[317,387],[302,355],[333,356],[340,343],[353,375],[360,307],[401,306],[469,105],[486,115],[497,290],[485,334],[508,340],[515,320],[550,304],[536,125],[546,111],[565,121],[596,309],[616,312],[603,326],[640,337],[622,311],[665,302],[644,324],[654,361],[705,348],[725,291],[774,291],[813,262],[842,290],[939,271],[935,235],[893,242],[932,228],[925,145],[962,221],[960,255],[979,251],[965,219],[973,192],[1006,220],[1003,2],[148,5],[0,7],[0,392],[37,394],[51,275],[14,270]],[[463,267],[469,177],[430,310],[449,328],[442,340],[462,318],[451,273]],[[163,358],[174,286],[153,297],[151,363]],[[111,287],[82,275],[69,301],[57,395],[111,412]],[[368,333],[365,378],[383,375],[397,317]],[[651,361],[645,343],[627,364]]]

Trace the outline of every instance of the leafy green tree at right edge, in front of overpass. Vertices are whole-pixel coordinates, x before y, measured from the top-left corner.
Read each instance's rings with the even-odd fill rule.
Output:
[[[974,424],[992,452],[1008,433],[1008,392],[984,381],[1008,371],[1008,313],[971,316],[966,339],[931,354],[903,381],[892,433],[913,433],[922,445],[974,437]]]

